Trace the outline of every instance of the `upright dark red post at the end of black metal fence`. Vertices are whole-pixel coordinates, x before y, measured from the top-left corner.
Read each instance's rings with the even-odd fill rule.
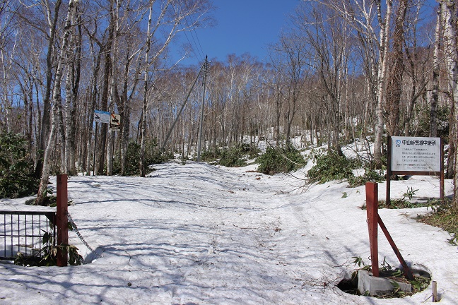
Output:
[[[68,200],[67,200],[67,175],[57,175],[57,210],[56,210],[56,226],[57,226],[57,265],[65,267],[68,262],[68,253],[66,247],[69,244],[69,228],[68,228]]]

